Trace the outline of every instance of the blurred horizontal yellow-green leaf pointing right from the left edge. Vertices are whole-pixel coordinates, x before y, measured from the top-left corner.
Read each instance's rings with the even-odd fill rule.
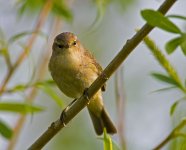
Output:
[[[30,105],[27,103],[16,103],[16,102],[0,102],[0,111],[14,112],[14,113],[33,113],[41,112],[44,109],[40,106]]]

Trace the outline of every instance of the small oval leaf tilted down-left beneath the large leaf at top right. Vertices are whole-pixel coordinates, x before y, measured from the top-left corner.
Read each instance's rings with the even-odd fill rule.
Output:
[[[165,49],[166,49],[166,52],[168,54],[171,54],[173,53],[176,48],[182,43],[182,38],[181,37],[177,37],[177,38],[174,38],[174,39],[171,39],[170,41],[168,41],[165,45]]]

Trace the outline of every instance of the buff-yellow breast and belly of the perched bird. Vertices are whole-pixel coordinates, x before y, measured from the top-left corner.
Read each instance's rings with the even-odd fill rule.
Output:
[[[50,71],[61,91],[72,98],[79,98],[85,88],[97,77],[86,61],[78,55],[56,56],[50,60]]]

